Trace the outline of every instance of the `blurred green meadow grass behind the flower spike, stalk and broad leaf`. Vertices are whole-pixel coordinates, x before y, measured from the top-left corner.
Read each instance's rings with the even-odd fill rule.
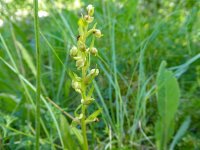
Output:
[[[80,97],[71,88],[69,50],[88,4],[103,37],[94,82],[100,121],[88,127],[90,149],[155,149],[155,80],[162,60],[177,77],[181,98],[175,133],[186,122],[177,150],[200,149],[200,2],[198,0],[43,0],[41,149],[62,149],[59,116],[46,97],[74,115]],[[32,1],[0,0],[0,149],[33,149],[36,52]],[[68,117],[66,117],[68,118]],[[69,123],[71,122],[68,118]],[[172,139],[173,140],[173,139]],[[170,143],[169,143],[170,144]]]

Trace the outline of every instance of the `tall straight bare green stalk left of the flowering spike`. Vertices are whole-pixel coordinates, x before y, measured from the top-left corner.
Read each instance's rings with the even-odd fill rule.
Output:
[[[41,93],[41,54],[39,45],[39,20],[38,20],[38,0],[34,0],[34,29],[35,29],[35,48],[37,59],[37,76],[36,76],[36,145],[35,149],[39,150],[40,138],[40,93]]]

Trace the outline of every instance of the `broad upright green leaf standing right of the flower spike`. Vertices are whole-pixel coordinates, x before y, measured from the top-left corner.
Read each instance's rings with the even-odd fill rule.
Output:
[[[174,132],[174,118],[178,109],[180,90],[173,73],[162,62],[157,76],[157,107],[159,118],[155,126],[158,150],[166,150]]]

